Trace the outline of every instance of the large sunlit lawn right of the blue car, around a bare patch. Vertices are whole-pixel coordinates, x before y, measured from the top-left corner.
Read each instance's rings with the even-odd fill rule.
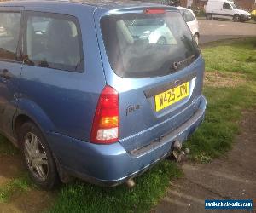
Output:
[[[256,38],[242,42],[224,42],[221,46],[203,49],[207,72],[241,73],[246,82],[236,88],[212,88],[205,83],[207,96],[205,122],[191,136],[187,147],[191,158],[208,162],[232,147],[239,133],[243,110],[256,106]]]

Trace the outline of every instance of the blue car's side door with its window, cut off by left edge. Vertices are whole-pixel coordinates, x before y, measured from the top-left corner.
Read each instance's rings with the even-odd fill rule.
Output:
[[[0,130],[11,136],[20,84],[21,7],[0,7]]]

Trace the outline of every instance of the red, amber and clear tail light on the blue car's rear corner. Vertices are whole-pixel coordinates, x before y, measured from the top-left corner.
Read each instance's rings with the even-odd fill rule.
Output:
[[[93,143],[110,144],[119,140],[119,94],[110,86],[102,90],[90,133]]]

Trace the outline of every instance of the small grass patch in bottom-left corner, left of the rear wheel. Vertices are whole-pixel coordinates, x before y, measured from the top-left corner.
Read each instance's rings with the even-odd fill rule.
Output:
[[[9,180],[0,186],[0,204],[8,202],[14,194],[25,193],[32,187],[32,182],[26,174]]]

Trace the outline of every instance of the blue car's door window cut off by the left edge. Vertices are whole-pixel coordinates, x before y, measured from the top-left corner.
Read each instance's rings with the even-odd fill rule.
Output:
[[[0,60],[16,60],[20,13],[0,12]]]

